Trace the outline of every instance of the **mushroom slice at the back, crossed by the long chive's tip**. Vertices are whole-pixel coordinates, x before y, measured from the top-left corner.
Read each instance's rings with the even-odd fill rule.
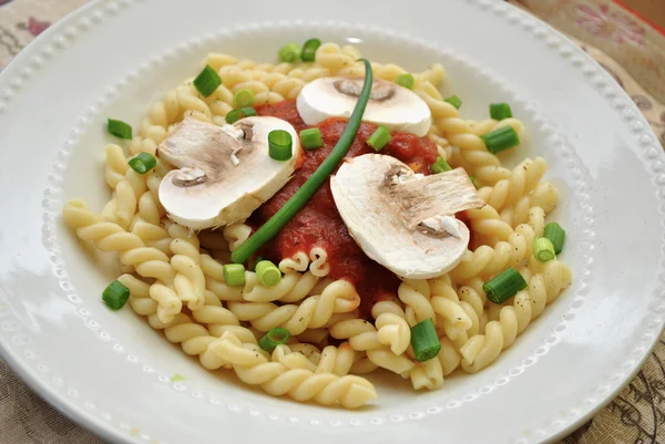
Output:
[[[298,113],[308,125],[328,117],[349,117],[362,89],[362,78],[321,78],[303,87]],[[362,120],[388,130],[424,136],[432,124],[427,103],[412,91],[385,80],[375,80]]]

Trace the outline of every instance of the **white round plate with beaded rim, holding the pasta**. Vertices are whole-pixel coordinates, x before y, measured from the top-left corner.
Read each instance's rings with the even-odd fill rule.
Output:
[[[250,4],[249,4],[250,3]],[[282,20],[284,19],[284,20]],[[297,20],[296,20],[297,19]],[[278,21],[279,20],[279,21]],[[410,70],[441,62],[464,115],[505,100],[563,190],[555,219],[574,285],[498,362],[443,390],[378,382],[347,412],[217,378],[131,310],[60,220],[106,198],[103,122],[137,125],[208,50],[273,61],[317,35]],[[665,317],[662,149],[640,111],[572,42],[500,1],[101,0],[40,37],[0,76],[0,352],[38,393],[123,443],[534,443],[563,436],[632,378]],[[174,373],[186,381],[172,383]]]

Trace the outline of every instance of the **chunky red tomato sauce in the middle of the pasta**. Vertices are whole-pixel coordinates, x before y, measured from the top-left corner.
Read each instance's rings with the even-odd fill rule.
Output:
[[[295,101],[259,106],[256,111],[258,115],[272,115],[288,121],[298,132],[307,127],[298,115]],[[330,154],[346,123],[346,118],[328,118],[318,125],[324,137],[324,146],[303,153],[303,158],[299,159],[301,165],[290,182],[254,211],[249,220],[253,226],[258,227],[270,218],[307,180]],[[362,123],[347,157],[374,153],[374,148],[369,147],[366,141],[376,128],[377,125]],[[427,137],[396,133],[381,154],[397,157],[411,166],[416,173],[427,175],[429,166],[437,159],[437,146]],[[265,247],[263,255],[278,261],[291,257],[297,251],[309,252],[317,246],[328,252],[330,278],[347,279],[356,286],[362,300],[361,314],[367,316],[376,302],[397,293],[400,282],[397,276],[365,256],[349,235],[337,213],[329,182],[315,193],[309,203]]]

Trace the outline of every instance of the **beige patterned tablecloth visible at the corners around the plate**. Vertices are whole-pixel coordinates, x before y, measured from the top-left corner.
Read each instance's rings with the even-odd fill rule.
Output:
[[[0,70],[50,23],[85,1],[0,0]],[[665,146],[662,30],[617,0],[510,1],[567,33],[596,59],[633,97]],[[644,1],[665,9],[665,0]],[[0,443],[103,442],[42,401],[0,361]],[[665,443],[665,335],[628,386],[563,443]]]

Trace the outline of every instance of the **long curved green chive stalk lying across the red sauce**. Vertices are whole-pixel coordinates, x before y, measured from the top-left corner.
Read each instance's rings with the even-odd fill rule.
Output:
[[[277,236],[279,230],[284,228],[286,224],[307,204],[309,198],[316,193],[316,190],[328,179],[328,176],[337,168],[337,165],[341,162],[344,156],[349,151],[354,137],[360,127],[360,121],[372,85],[372,72],[371,64],[366,60],[361,59],[365,63],[365,83],[362,90],[354,107],[354,112],[347,122],[347,126],[341,133],[341,136],[337,141],[337,144],[328,154],[328,157],[316,168],[314,174],[309,176],[307,182],[298,188],[298,190],[291,196],[290,199],[270,219],[265,223],[259,229],[254,233],[241,247],[231,254],[231,258],[234,262],[242,264],[249,256],[252,256],[257,249],[263,247],[265,242]]]

